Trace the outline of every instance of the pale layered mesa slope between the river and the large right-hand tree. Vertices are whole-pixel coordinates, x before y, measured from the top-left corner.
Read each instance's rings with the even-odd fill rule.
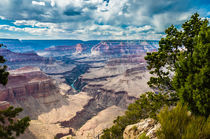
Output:
[[[74,86],[80,89],[95,88],[96,91],[101,89],[125,91],[129,96],[138,98],[142,93],[152,91],[147,85],[150,76],[145,64],[105,66],[90,68],[74,82]]]

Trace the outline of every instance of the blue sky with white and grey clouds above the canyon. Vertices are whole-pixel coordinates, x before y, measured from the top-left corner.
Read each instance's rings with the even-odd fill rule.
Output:
[[[159,40],[209,0],[0,0],[0,38]]]

